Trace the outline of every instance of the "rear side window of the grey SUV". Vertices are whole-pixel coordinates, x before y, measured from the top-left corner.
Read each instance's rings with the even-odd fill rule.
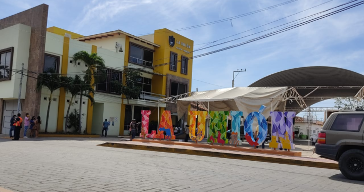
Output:
[[[338,114],[333,125],[332,131],[360,131],[364,114]]]

